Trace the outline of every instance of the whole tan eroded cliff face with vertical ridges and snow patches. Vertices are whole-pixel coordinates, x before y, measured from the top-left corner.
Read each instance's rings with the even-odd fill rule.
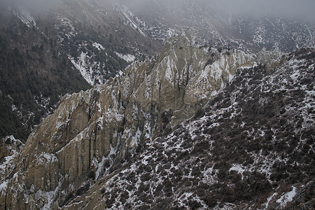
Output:
[[[208,102],[253,55],[202,48],[190,34],[120,77],[66,95],[1,176],[1,209],[62,207]]]

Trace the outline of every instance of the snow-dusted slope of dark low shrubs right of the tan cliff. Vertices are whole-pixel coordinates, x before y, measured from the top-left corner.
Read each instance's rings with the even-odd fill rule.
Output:
[[[237,71],[195,117],[64,209],[311,209],[314,49]]]

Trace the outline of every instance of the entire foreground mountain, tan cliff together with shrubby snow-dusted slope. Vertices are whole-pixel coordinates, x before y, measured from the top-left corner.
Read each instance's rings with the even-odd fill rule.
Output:
[[[2,142],[1,208],[310,207],[314,55],[169,39]]]

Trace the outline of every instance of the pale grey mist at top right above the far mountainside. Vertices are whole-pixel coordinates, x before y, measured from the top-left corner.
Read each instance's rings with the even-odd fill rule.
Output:
[[[117,0],[118,1],[118,0]],[[121,1],[121,0],[120,0]],[[183,3],[199,3],[202,8],[220,10],[235,16],[276,16],[315,23],[314,0],[123,0],[129,5],[145,10],[146,6],[160,3],[166,6],[181,6]],[[189,10],[189,8],[187,8]]]

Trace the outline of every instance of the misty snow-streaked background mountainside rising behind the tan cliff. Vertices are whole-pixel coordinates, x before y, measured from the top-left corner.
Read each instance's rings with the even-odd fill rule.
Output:
[[[314,24],[230,14],[204,1],[1,0],[0,139],[26,141],[66,93],[87,90],[155,57],[188,28],[204,48],[292,52]],[[18,76],[17,76],[18,75]]]

